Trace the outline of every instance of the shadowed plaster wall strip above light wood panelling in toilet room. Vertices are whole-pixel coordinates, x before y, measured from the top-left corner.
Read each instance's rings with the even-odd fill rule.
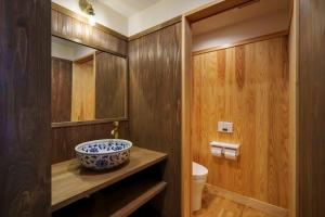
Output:
[[[193,37],[193,51],[224,47],[246,39],[288,29],[288,13],[283,11],[218,28]]]

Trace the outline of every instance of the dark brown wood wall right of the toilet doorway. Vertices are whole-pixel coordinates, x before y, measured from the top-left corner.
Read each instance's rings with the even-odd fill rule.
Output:
[[[325,1],[300,0],[298,214],[325,216]]]

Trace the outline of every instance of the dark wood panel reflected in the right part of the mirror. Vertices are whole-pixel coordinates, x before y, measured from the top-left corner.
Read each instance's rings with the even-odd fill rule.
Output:
[[[121,118],[127,111],[127,60],[109,53],[95,55],[95,118]]]

